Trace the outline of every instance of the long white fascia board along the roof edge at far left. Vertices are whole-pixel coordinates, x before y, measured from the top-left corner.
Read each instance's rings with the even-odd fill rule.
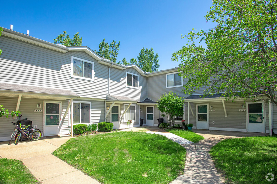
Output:
[[[26,34],[23,34],[23,33],[19,33],[19,32],[16,32],[16,31],[13,31],[13,30],[10,30],[10,29],[7,29],[7,28],[3,28],[2,35],[10,37],[10,38],[17,39],[17,40],[21,40],[21,41],[24,41],[24,42],[27,42],[27,43],[32,43],[32,44],[35,44],[35,45],[39,45],[41,47],[45,47],[45,48],[48,48],[48,49],[63,52],[63,53],[66,53],[68,51],[68,48],[65,48],[63,46],[57,45],[55,43],[50,43],[50,42],[47,42],[47,41],[29,36],[29,35],[26,35]]]

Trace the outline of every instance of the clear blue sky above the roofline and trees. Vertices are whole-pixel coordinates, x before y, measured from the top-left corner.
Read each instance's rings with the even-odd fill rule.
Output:
[[[53,43],[63,30],[79,31],[83,45],[98,50],[99,43],[120,41],[117,60],[136,58],[140,49],[153,48],[162,69],[178,66],[172,53],[187,43],[181,39],[195,28],[208,30],[204,16],[211,0],[172,1],[3,1],[0,26]]]

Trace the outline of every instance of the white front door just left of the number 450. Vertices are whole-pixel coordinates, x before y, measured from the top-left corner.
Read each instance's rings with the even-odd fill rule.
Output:
[[[208,104],[198,104],[196,105],[196,128],[197,129],[209,129],[208,123]]]

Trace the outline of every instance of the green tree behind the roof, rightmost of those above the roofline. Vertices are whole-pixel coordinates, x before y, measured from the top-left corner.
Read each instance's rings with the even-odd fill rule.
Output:
[[[145,72],[155,72],[158,71],[158,68],[160,67],[159,55],[156,53],[154,54],[154,51],[152,48],[150,49],[141,49],[140,53],[138,55],[138,61],[136,59],[131,59],[132,64],[137,64],[142,70]]]

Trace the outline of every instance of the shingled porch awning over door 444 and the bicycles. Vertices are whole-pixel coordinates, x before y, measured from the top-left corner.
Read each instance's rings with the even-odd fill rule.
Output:
[[[53,100],[67,100],[77,98],[79,95],[68,89],[45,88],[40,86],[0,83],[0,96],[25,98],[44,98]]]

